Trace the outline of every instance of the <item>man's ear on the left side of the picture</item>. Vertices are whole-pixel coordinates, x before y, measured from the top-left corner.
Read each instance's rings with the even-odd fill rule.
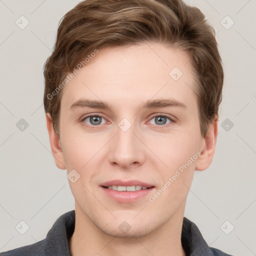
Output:
[[[66,169],[66,167],[64,164],[63,152],[60,145],[60,138],[53,129],[50,114],[46,113],[45,116],[46,116],[47,130],[49,133],[51,152],[54,157],[55,164],[57,165],[58,168],[64,170]]]

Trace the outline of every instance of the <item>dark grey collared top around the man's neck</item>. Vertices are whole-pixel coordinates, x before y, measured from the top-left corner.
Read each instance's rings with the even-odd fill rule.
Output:
[[[68,240],[74,232],[74,222],[74,210],[68,211],[57,218],[45,239],[0,252],[0,256],[70,256]],[[186,256],[231,256],[209,247],[198,227],[186,217],[183,217],[181,244]]]

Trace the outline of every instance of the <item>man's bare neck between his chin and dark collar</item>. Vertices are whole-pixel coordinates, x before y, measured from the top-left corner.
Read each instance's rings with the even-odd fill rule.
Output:
[[[75,205],[75,228],[69,239],[71,256],[185,256],[181,245],[184,205],[161,227],[141,237],[119,238],[97,228]]]

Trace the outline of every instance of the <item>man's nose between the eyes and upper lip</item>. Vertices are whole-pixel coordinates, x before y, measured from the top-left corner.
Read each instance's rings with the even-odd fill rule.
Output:
[[[131,125],[126,131],[122,126],[118,126],[115,136],[109,143],[110,163],[123,169],[141,165],[145,159],[145,145],[140,137],[135,125]]]

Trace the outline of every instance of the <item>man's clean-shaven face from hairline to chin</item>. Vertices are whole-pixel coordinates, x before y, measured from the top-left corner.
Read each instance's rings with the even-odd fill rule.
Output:
[[[117,237],[183,214],[194,169],[212,156],[200,155],[195,88],[188,54],[155,42],[101,49],[68,82],[53,151],[76,213]]]

